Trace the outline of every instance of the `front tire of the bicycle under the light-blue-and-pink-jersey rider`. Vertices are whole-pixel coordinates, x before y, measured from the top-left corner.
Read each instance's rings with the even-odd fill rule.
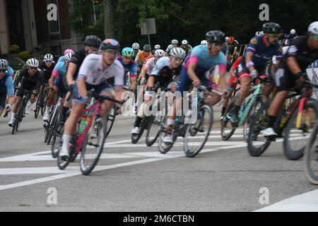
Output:
[[[204,114],[200,119],[199,126],[206,124],[204,121],[202,121],[202,119],[204,119],[204,115],[206,113],[208,113],[210,115],[210,117],[208,119],[208,131],[206,133],[206,136],[204,137],[204,141],[201,143],[201,145],[199,145],[199,148],[196,148],[196,150],[194,150],[194,151],[190,151],[188,144],[189,144],[189,135],[192,136],[191,129],[192,129],[193,124],[189,124],[187,126],[187,130],[184,134],[184,146],[183,146],[184,153],[187,155],[187,157],[195,157],[196,155],[198,155],[199,152],[202,150],[202,148],[204,148],[204,144],[206,143],[206,141],[208,140],[208,136],[210,135],[210,131],[211,131],[212,124],[213,124],[213,109],[210,105],[202,105],[200,107],[200,112],[202,109],[206,109],[206,111],[204,111]],[[199,129],[196,129],[196,130],[199,131]],[[194,136],[196,136],[196,135],[197,135],[197,133],[195,133]]]

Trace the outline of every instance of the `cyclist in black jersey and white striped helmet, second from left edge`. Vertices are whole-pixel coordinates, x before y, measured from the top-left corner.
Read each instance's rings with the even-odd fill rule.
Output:
[[[14,98],[12,106],[11,120],[8,122],[8,126],[13,126],[14,117],[16,117],[16,112],[18,112],[18,106],[20,100],[22,100],[23,98],[24,90],[30,90],[33,91],[33,93],[39,93],[41,76],[40,71],[38,71],[38,67],[39,61],[37,61],[37,59],[28,59],[28,68],[23,69],[18,77],[15,79],[14,87],[17,88],[18,84],[20,83],[20,88],[22,90],[16,91],[16,97]],[[35,101],[36,97],[35,95],[32,95],[25,107],[25,114],[30,114],[30,107]]]

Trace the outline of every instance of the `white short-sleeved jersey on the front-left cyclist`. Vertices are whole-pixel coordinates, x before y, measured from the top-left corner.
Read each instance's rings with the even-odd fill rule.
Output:
[[[102,55],[89,54],[83,61],[78,78],[85,78],[90,85],[100,85],[114,77],[114,85],[124,85],[124,67],[115,59],[105,71],[102,71]]]

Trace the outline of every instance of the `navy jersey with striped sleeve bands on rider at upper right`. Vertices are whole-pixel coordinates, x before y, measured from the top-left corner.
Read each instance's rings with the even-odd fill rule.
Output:
[[[283,57],[283,47],[279,42],[270,46],[266,46],[266,38],[264,35],[255,36],[250,40],[249,46],[247,47],[247,52],[252,52],[254,54],[253,62],[254,66],[263,67],[266,66],[267,61],[273,56],[276,56],[278,61]],[[247,52],[244,54],[244,59]]]

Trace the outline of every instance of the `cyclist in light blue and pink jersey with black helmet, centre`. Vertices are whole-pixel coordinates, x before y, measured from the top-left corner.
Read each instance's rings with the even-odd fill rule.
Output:
[[[226,59],[221,49],[223,49],[225,44],[225,35],[219,30],[211,30],[206,33],[206,40],[208,45],[199,45],[194,47],[192,54],[184,61],[182,66],[182,71],[179,75],[179,80],[177,81],[177,91],[183,95],[184,91],[189,91],[190,87],[199,87],[204,85],[206,87],[213,87],[215,84],[211,81],[210,73],[214,66],[220,66],[220,87],[223,92],[226,86]],[[211,94],[207,99],[209,105],[215,105],[220,101],[220,96]],[[182,103],[180,98],[177,98],[174,102],[174,108],[179,111],[181,109]],[[163,141],[165,143],[172,143],[171,131],[172,126],[175,124],[176,111],[173,111],[172,116],[167,119],[167,133]]]

